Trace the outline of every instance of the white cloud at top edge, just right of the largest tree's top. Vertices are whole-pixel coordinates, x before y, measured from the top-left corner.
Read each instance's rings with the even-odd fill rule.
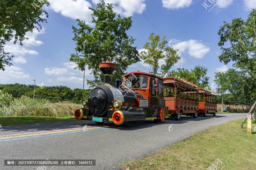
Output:
[[[107,3],[113,4],[113,11],[125,17],[133,16],[134,13],[141,14],[146,9],[145,0],[105,0]],[[101,0],[92,0],[94,4],[101,3]]]

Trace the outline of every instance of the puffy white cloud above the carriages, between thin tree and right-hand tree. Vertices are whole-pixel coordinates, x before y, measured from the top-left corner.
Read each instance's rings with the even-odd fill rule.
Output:
[[[175,44],[173,48],[179,49],[180,52],[185,52],[188,49],[188,54],[195,58],[201,59],[210,51],[210,48],[198,40],[183,41]],[[181,56],[180,52],[177,52]]]

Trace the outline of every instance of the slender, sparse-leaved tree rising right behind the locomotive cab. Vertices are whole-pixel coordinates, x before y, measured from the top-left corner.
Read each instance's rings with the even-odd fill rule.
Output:
[[[165,40],[166,36],[163,36],[161,41],[160,34],[154,35],[154,33],[151,33],[148,39],[150,42],[144,44],[143,48],[145,50],[141,51],[141,59],[144,60],[144,63],[147,63],[152,67],[153,71],[150,73],[164,77],[171,67],[180,59],[180,56],[177,55],[178,50],[165,47],[165,44],[167,44],[167,41]],[[163,59],[165,64],[159,67],[160,59]],[[159,68],[161,68],[160,73],[157,72]]]

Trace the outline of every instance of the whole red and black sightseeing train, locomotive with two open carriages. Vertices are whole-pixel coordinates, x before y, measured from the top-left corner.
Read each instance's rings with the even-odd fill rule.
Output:
[[[110,62],[99,64],[104,82],[92,88],[83,108],[75,111],[77,120],[91,120],[96,124],[113,122],[128,127],[145,120],[161,123],[169,117],[179,120],[181,115],[213,114],[216,116],[216,95],[205,88],[174,76],[161,78],[151,73],[131,72],[110,85],[110,75],[116,65]]]

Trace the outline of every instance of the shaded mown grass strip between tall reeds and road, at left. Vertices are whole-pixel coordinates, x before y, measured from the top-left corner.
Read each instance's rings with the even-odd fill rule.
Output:
[[[50,117],[50,116],[0,116],[0,125],[21,125],[36,123],[58,123],[78,121],[74,116]]]

